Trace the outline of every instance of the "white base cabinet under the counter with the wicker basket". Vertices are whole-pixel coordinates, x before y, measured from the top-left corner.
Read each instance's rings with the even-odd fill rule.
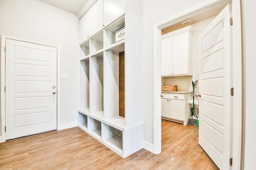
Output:
[[[191,92],[184,93],[162,93],[162,119],[188,124],[190,106],[188,98]]]

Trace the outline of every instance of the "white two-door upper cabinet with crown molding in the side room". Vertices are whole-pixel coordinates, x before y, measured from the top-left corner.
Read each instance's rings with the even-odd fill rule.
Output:
[[[193,33],[188,26],[162,35],[162,76],[192,75]]]

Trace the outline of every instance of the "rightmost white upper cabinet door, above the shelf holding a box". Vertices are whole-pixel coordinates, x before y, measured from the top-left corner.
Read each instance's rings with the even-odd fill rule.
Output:
[[[107,26],[125,14],[125,0],[104,0],[103,25]]]

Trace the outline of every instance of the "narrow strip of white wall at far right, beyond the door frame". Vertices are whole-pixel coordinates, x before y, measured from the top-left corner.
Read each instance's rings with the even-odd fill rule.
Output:
[[[245,110],[245,147],[244,169],[255,168],[256,158],[256,31],[255,1],[242,0],[243,50],[244,50],[244,110]]]

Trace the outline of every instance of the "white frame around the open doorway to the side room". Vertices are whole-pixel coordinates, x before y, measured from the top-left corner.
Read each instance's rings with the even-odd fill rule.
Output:
[[[152,152],[159,154],[161,152],[161,29],[174,25],[175,23],[186,20],[189,17],[200,14],[214,6],[228,4],[231,0],[209,0],[179,14],[166,18],[153,26],[154,31],[154,92],[153,92],[153,125],[154,125],[154,147]],[[232,168],[240,169],[241,166],[241,145],[242,145],[242,30],[241,30],[241,7],[240,0],[232,1],[233,17],[233,71],[234,77],[234,106],[233,106],[233,145],[232,147]],[[235,35],[235,36],[234,36]],[[242,158],[243,159],[243,158]]]

